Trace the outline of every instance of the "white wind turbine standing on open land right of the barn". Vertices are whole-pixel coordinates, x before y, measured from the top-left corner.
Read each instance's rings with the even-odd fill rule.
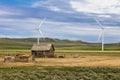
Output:
[[[101,33],[100,33],[100,35],[99,35],[99,38],[98,38],[98,40],[101,38],[102,39],[102,44],[101,44],[101,46],[102,46],[102,51],[104,51],[104,27],[103,27],[103,25],[100,23],[100,21],[97,19],[97,18],[95,18],[95,20],[96,20],[96,22],[99,24],[99,26],[100,26],[100,29],[101,29]]]

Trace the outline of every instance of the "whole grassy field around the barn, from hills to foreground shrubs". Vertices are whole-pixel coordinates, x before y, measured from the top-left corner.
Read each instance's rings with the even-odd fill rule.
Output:
[[[3,62],[4,54],[24,53],[29,50],[1,50],[0,67],[17,66],[65,66],[65,67],[120,67],[120,51],[81,51],[81,52],[56,52],[55,56],[65,58],[35,58],[35,62]]]

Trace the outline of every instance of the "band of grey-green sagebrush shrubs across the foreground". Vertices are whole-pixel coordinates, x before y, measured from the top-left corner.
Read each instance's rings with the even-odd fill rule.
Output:
[[[120,80],[120,69],[90,67],[0,69],[0,80]]]

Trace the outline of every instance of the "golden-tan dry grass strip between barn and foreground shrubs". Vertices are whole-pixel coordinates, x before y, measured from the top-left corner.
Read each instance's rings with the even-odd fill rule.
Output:
[[[80,56],[79,58],[36,58],[35,62],[3,62],[0,67],[54,66],[54,67],[120,67],[119,56]]]

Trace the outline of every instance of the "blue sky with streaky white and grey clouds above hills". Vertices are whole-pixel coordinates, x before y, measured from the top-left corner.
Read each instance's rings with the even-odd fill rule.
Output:
[[[120,42],[120,0],[0,0],[0,37],[37,37]]]

